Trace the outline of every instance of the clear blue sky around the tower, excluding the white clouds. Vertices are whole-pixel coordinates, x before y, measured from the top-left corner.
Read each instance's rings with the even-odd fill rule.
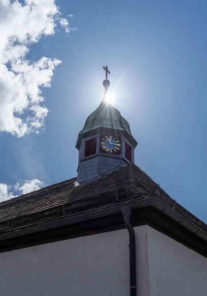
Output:
[[[78,132],[110,91],[138,141],[136,164],[178,203],[206,219],[207,1],[56,0],[69,27],[42,36],[26,58],[62,61],[40,87],[45,130],[0,133],[0,183],[76,176]]]

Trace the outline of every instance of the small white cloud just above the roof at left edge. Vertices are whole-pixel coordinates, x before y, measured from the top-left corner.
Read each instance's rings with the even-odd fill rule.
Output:
[[[22,186],[19,183],[16,183],[14,186],[8,186],[6,184],[0,183],[0,202],[17,197],[21,194],[38,190],[43,187],[43,185],[44,183],[37,179],[30,181],[27,180]],[[15,191],[19,191],[20,194],[14,194]]]

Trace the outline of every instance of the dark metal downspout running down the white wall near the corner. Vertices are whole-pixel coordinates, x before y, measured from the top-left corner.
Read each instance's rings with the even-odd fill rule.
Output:
[[[124,224],[129,232],[130,248],[130,296],[137,296],[137,266],[136,266],[136,240],[135,230],[130,222],[131,209],[126,205],[122,208]]]

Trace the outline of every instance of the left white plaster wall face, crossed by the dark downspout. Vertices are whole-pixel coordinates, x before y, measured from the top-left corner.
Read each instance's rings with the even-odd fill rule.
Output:
[[[139,286],[148,286],[146,226],[138,235]],[[0,296],[130,296],[126,229],[0,254]]]

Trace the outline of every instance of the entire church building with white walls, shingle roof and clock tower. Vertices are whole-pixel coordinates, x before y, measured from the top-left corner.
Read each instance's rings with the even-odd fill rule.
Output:
[[[135,164],[104,70],[77,177],[0,203],[0,296],[207,296],[207,225]]]

